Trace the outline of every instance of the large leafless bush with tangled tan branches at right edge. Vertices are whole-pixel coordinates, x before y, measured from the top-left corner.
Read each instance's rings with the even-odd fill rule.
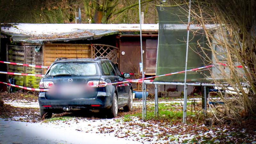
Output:
[[[228,82],[236,94],[211,114],[218,122],[251,118],[256,112],[256,1],[207,0],[192,2],[194,23],[204,29],[212,62],[225,63],[212,69],[215,83]],[[207,28],[213,24],[215,28]],[[241,65],[242,68],[237,68]],[[250,88],[243,88],[248,84]],[[223,86],[223,89],[227,87]]]

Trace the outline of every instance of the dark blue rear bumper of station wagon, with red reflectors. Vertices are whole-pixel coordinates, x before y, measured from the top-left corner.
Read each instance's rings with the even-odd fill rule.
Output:
[[[110,108],[111,96],[105,92],[99,92],[95,99],[72,99],[72,100],[47,100],[45,92],[40,92],[38,97],[41,109],[63,109],[72,107],[73,109],[102,109]]]

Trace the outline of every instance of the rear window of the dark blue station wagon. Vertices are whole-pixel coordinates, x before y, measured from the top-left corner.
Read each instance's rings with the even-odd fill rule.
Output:
[[[99,76],[96,62],[60,62],[52,65],[45,76]]]

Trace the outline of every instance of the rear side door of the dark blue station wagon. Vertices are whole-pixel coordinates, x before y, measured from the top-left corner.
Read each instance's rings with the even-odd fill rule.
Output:
[[[110,63],[110,61],[105,61],[104,63],[108,66],[108,70],[110,73],[109,79],[111,80],[111,82],[112,83],[121,82],[122,79],[120,79],[120,77],[116,75],[115,69]],[[117,89],[118,105],[122,105],[123,97],[124,97],[124,90],[123,90],[124,88],[122,87],[122,84],[114,84],[114,85],[116,86],[116,89]]]

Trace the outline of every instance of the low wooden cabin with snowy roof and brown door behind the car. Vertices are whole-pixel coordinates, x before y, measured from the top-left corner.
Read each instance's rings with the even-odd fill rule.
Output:
[[[50,66],[58,57],[105,56],[121,72],[139,68],[139,24],[1,24],[0,60]],[[155,75],[158,24],[142,24],[143,63]],[[0,63],[0,71],[44,74],[46,69]],[[41,77],[0,74],[1,82],[38,88]],[[13,81],[14,80],[14,81]],[[0,89],[5,89],[1,84]]]

